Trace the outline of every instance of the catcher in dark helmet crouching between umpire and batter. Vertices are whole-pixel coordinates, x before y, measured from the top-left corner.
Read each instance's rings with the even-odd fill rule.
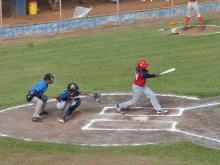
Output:
[[[79,98],[80,90],[77,84],[70,83],[67,85],[67,91],[59,94],[57,97],[57,109],[61,110],[58,121],[60,123],[66,122],[66,117],[70,116],[72,112],[80,105]]]

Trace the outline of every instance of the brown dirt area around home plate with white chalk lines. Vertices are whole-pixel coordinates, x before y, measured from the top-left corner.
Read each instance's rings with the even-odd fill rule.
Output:
[[[0,135],[28,141],[46,141],[80,145],[143,145],[187,140],[220,148],[220,98],[200,100],[193,97],[158,95],[166,114],[156,114],[144,98],[137,107],[117,113],[114,104],[126,101],[131,94],[103,94],[102,102],[83,97],[82,104],[68,118],[57,121],[55,102],[47,106],[43,123],[31,121],[33,105],[0,111]]]

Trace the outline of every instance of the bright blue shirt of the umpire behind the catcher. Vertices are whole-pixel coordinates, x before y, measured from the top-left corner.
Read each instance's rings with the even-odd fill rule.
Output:
[[[30,94],[41,97],[46,92],[48,88],[48,84],[45,80],[41,80],[37,84],[34,85],[34,87],[31,89]]]

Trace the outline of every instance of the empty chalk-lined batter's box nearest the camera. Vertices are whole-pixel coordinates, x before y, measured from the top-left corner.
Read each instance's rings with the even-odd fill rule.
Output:
[[[84,126],[82,130],[90,131],[172,131],[175,121],[131,121],[131,120],[109,120],[94,119]]]

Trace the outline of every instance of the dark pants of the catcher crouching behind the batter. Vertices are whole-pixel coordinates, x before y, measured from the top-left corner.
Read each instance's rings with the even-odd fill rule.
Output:
[[[66,103],[64,110],[61,112],[60,118],[65,119],[67,115],[71,114],[81,104],[80,98],[75,98]]]

